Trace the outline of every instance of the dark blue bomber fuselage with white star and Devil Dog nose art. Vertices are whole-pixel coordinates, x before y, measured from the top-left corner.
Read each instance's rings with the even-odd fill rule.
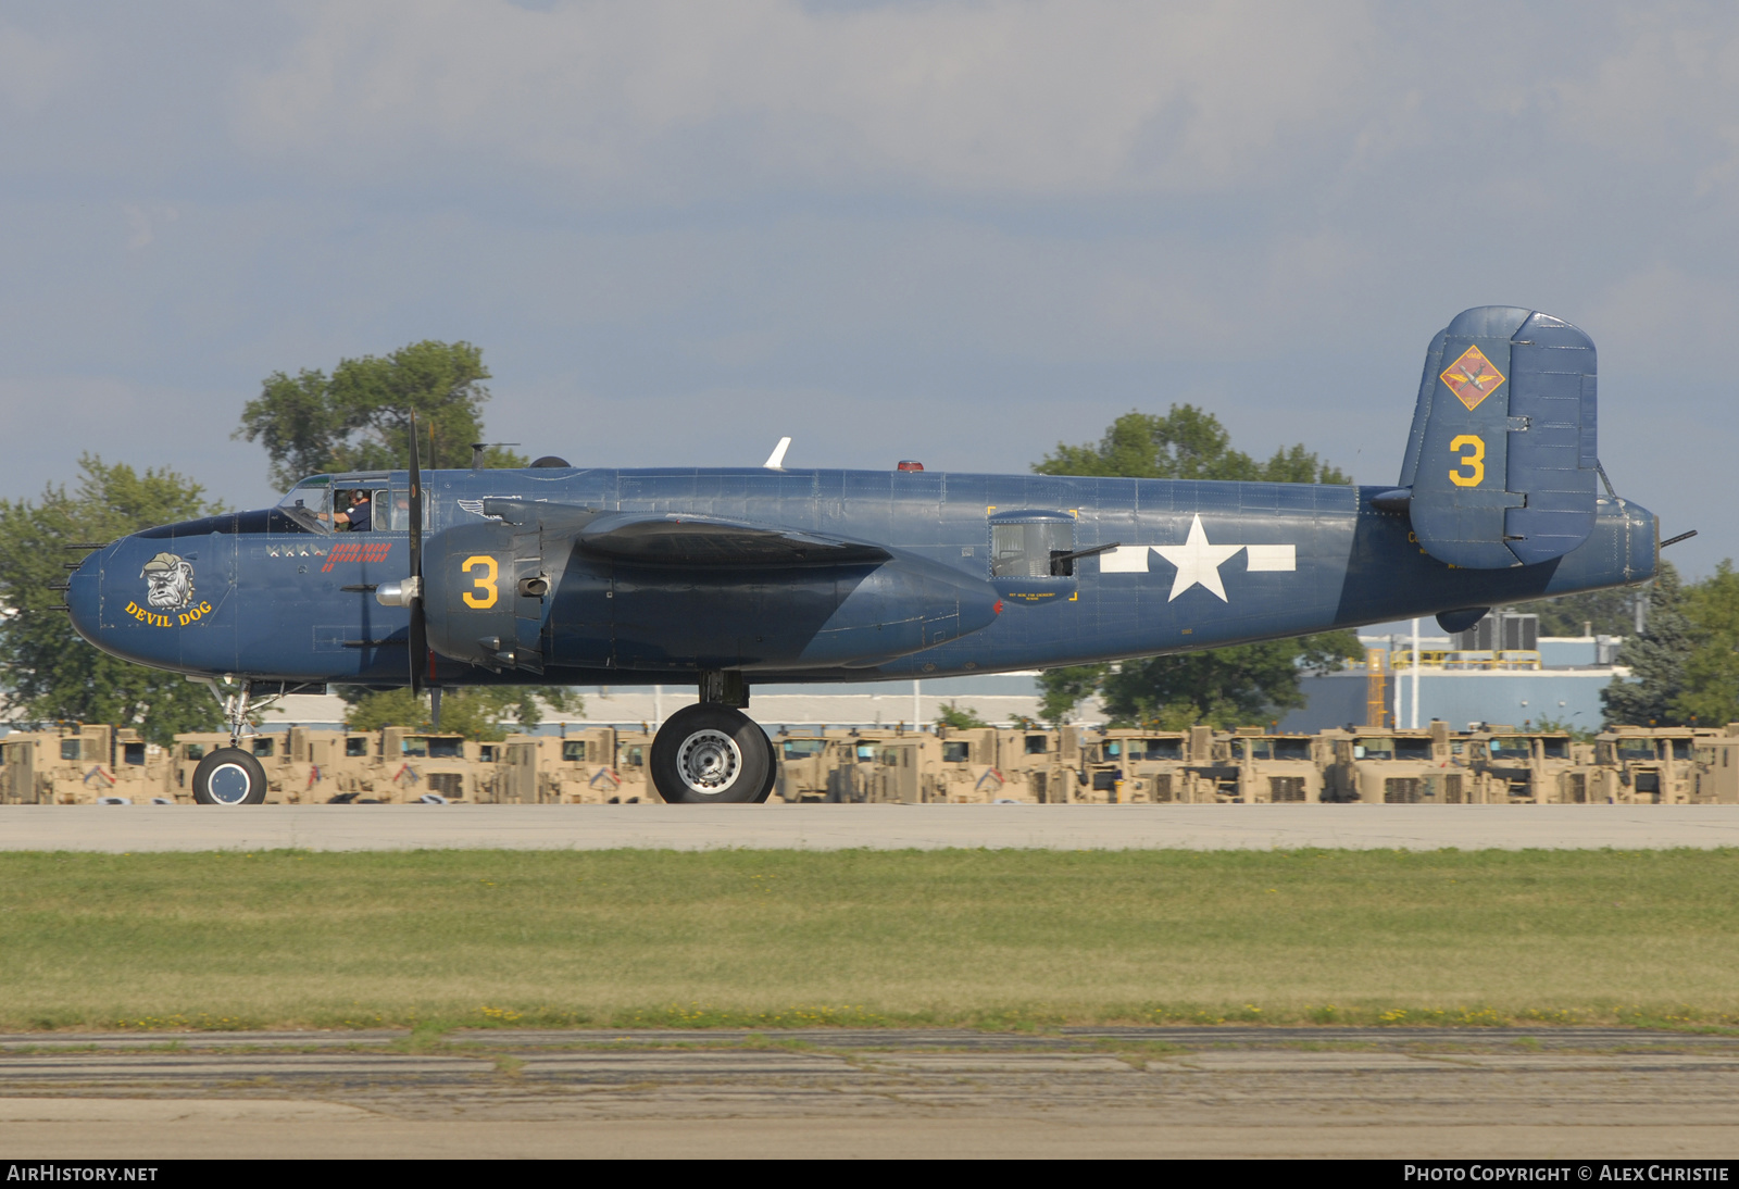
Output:
[[[1565,556],[1476,570],[1429,556],[1405,509],[1372,506],[1388,490],[1377,487],[758,468],[428,471],[423,480],[423,570],[449,600],[442,629],[431,626],[443,685],[630,685],[718,669],[756,683],[863,681],[1052,668],[1635,584],[1657,565],[1656,518],[1621,499],[1598,501],[1593,534]],[[403,502],[407,475],[336,476],[330,487],[369,487],[388,506],[369,532],[334,532],[330,520],[280,508],[123,537],[73,574],[75,628],[106,652],[188,674],[405,683],[410,612],[379,605],[374,588],[409,572],[409,535],[390,506]],[[645,565],[550,527],[497,548],[490,541],[511,532],[483,513],[485,499],[716,518],[870,542],[887,556]],[[483,525],[501,532],[489,537],[496,528]],[[464,544],[473,539],[483,544]],[[1059,563],[1073,572],[1043,565],[1042,555],[1111,544]],[[529,575],[546,588],[525,586]],[[466,659],[476,640],[537,664]]]

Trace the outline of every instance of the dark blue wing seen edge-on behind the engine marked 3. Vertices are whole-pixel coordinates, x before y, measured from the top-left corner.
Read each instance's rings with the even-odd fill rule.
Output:
[[[630,565],[798,567],[880,563],[882,546],[687,513],[612,513],[579,530],[581,553]]]

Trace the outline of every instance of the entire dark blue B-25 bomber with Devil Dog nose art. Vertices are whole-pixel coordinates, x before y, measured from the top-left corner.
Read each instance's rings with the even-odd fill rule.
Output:
[[[1643,582],[1659,528],[1596,454],[1595,346],[1525,308],[1429,346],[1395,487],[762,468],[316,475],[163,525],[68,581],[97,648],[212,683],[231,746],[195,800],[264,800],[240,742],[329,683],[690,680],[666,801],[763,801],[756,681],[995,673],[1188,652]],[[336,499],[337,497],[337,499]],[[223,695],[217,678],[235,694]]]

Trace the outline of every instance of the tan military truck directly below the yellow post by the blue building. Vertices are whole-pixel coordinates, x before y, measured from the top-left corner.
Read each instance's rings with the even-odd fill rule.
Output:
[[[1480,782],[1457,756],[1449,723],[1428,730],[1322,732],[1323,801],[1471,805]]]

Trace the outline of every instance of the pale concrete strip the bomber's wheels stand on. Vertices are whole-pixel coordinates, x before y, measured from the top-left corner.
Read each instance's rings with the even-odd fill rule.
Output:
[[[3,805],[5,850],[1739,847],[1736,805]]]

